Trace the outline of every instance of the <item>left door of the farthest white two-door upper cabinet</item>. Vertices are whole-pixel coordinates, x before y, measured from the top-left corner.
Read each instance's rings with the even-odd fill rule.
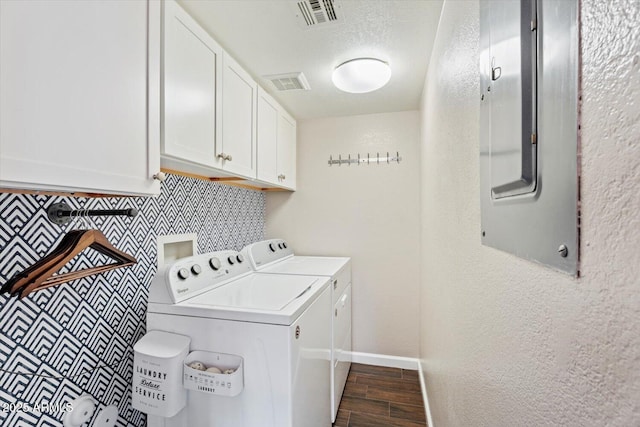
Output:
[[[264,89],[258,88],[258,179],[278,182],[278,116],[280,106]]]

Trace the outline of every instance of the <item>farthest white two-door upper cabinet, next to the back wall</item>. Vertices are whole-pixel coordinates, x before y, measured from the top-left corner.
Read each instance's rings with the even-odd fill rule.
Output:
[[[258,91],[258,179],[295,190],[296,121],[262,88]]]

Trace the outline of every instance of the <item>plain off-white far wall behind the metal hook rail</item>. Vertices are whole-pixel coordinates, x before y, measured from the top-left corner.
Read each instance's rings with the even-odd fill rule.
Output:
[[[300,121],[298,190],[267,195],[268,237],[352,257],[355,351],[418,356],[419,146],[416,111]],[[387,151],[402,162],[327,164]]]

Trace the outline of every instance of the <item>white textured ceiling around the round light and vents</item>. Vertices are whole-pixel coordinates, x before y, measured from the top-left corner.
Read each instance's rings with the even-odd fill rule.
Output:
[[[302,29],[295,0],[179,0],[258,83],[296,118],[417,109],[442,0],[338,0],[339,23]],[[333,69],[356,57],[391,65],[384,88],[348,94]],[[302,71],[309,91],[277,91],[265,75]]]

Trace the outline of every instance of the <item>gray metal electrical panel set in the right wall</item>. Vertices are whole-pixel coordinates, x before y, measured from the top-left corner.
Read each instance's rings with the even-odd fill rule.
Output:
[[[578,2],[481,0],[482,243],[578,274]]]

